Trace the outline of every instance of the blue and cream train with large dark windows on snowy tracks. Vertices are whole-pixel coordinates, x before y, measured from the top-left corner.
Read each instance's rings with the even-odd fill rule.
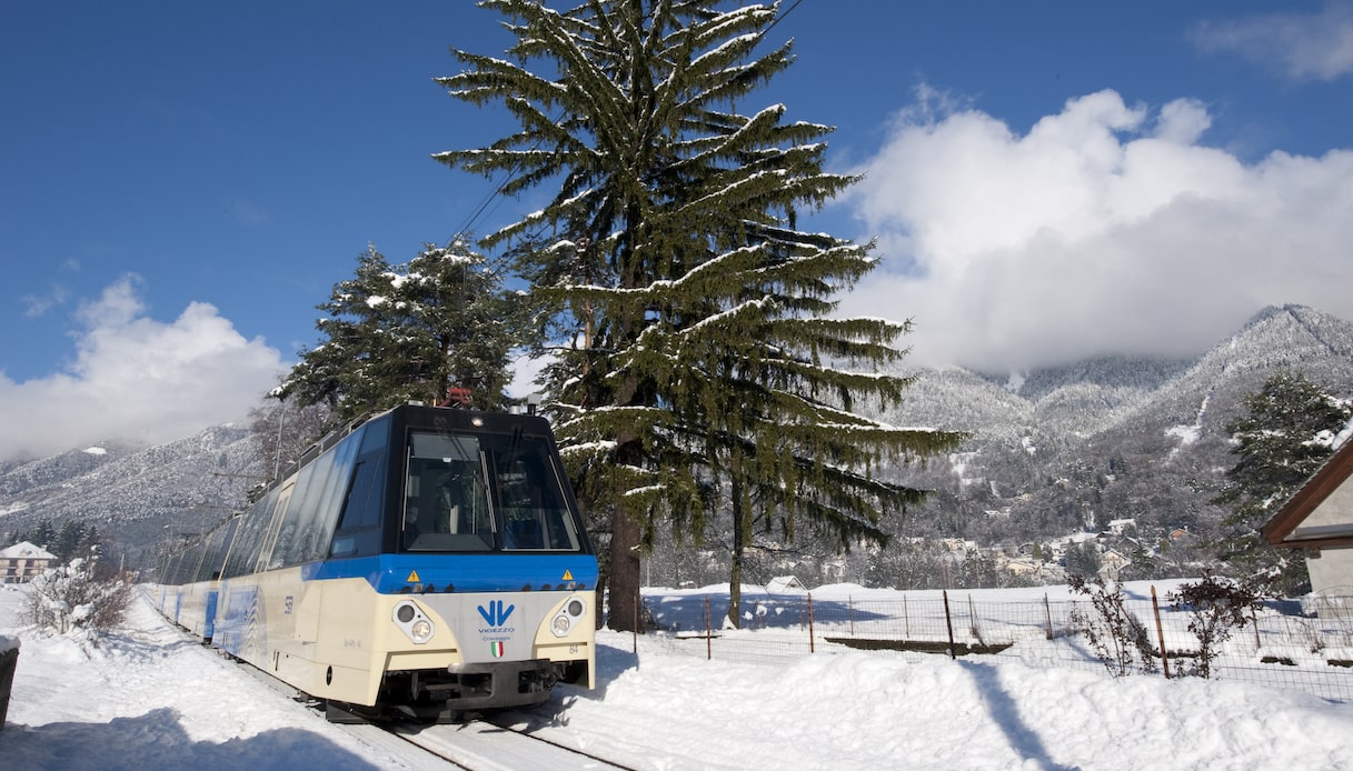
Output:
[[[331,721],[449,722],[594,688],[597,580],[544,418],[410,403],[317,442],[150,588]]]

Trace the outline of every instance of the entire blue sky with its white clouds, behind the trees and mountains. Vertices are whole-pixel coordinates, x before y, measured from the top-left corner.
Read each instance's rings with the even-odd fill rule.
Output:
[[[1353,318],[1353,3],[785,3],[752,112],[866,174],[810,226],[878,239],[843,312],[917,364],[1187,356],[1264,304]],[[468,1],[12,3],[0,23],[0,459],[242,415],[375,243],[538,208],[433,153]],[[541,196],[545,192],[540,193]]]

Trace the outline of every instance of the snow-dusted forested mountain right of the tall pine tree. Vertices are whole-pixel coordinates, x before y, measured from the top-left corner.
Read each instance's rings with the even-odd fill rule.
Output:
[[[1353,323],[1269,307],[1192,361],[1099,358],[1019,377],[919,372],[898,425],[971,431],[962,452],[898,477],[936,490],[905,533],[1027,542],[1135,519],[1143,537],[1207,536],[1235,465],[1226,425],[1280,369],[1353,391]],[[1154,541],[1153,541],[1154,542]]]

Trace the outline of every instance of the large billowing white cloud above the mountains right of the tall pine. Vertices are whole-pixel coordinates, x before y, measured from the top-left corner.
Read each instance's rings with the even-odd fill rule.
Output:
[[[847,200],[881,265],[843,311],[913,318],[915,363],[986,371],[1192,356],[1266,304],[1353,319],[1353,151],[1246,164],[1200,143],[1210,123],[1114,91],[1026,134],[902,111]]]

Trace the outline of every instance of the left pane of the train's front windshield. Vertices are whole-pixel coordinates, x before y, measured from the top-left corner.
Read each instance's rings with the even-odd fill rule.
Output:
[[[403,541],[413,551],[494,548],[494,518],[476,437],[410,437]]]

